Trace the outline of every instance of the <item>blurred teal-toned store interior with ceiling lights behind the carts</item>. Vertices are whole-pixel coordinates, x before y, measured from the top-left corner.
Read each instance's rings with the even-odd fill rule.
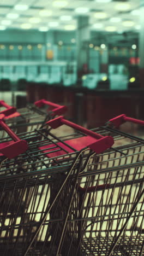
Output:
[[[1,100],[66,104],[90,128],[144,119],[143,13],[143,0],[1,0]]]

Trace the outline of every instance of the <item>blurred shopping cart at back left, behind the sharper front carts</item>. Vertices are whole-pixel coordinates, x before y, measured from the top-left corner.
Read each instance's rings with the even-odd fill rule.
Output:
[[[15,133],[38,129],[46,121],[67,111],[66,106],[60,106],[44,99],[18,110],[4,101],[0,101],[0,107],[6,108],[0,113],[5,115],[5,121]],[[1,136],[4,135],[1,134]]]

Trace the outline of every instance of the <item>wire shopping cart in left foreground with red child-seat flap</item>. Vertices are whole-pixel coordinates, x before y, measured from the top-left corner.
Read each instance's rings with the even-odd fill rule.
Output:
[[[1,123],[4,127],[3,120]],[[59,238],[67,228],[79,173],[87,168],[95,152],[113,144],[110,136],[79,128],[85,136],[75,138],[79,139],[78,148],[43,127],[20,135],[28,144],[25,153],[9,155],[7,150],[0,150],[1,255],[59,254]],[[7,149],[11,143],[2,138],[0,148],[4,145]],[[57,223],[55,217],[61,207]]]

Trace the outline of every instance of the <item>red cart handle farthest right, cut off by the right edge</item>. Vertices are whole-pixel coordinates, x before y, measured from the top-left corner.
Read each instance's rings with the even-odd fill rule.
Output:
[[[139,119],[135,119],[135,118],[127,117],[127,115],[125,115],[125,114],[118,115],[118,117],[110,119],[109,122],[112,123],[113,125],[115,125],[116,127],[124,124],[125,122],[132,122],[132,123],[135,123],[135,124],[144,125],[144,121],[139,120]]]

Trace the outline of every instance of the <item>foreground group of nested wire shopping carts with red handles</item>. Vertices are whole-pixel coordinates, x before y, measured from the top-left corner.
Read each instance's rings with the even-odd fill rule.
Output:
[[[144,122],[91,131],[50,113],[17,135],[1,114],[1,255],[143,255],[144,141],[118,126]]]

